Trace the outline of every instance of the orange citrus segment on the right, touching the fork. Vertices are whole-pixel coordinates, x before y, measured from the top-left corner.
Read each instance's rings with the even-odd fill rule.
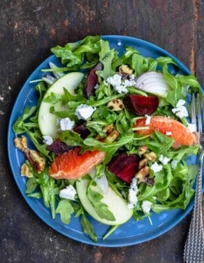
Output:
[[[170,138],[174,138],[175,142],[173,147],[180,147],[181,145],[192,146],[196,143],[196,136],[182,123],[173,118],[165,116],[152,116],[148,125],[146,118],[140,118],[136,120],[133,127],[148,127],[149,129],[136,130],[138,134],[149,135],[155,130],[161,134],[168,135]]]

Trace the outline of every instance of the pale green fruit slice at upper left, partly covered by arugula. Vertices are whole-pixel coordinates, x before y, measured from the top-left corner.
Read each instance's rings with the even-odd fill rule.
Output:
[[[56,93],[62,95],[64,93],[64,88],[67,89],[70,93],[74,94],[75,88],[84,78],[84,74],[80,72],[67,73],[62,78],[56,80],[53,85],[51,85],[46,91],[44,98],[48,97],[50,93]],[[44,102],[44,99],[41,102],[39,107],[38,114],[38,125],[43,135],[50,135],[55,138],[57,136],[57,117],[54,114],[50,114],[50,107],[55,107],[55,111],[63,111],[66,109],[65,106],[62,106],[61,102],[55,103],[55,105]]]

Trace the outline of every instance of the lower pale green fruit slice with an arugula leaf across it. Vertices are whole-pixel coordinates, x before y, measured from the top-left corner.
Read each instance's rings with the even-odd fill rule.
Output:
[[[76,188],[82,206],[84,207],[86,212],[91,215],[91,217],[93,217],[97,221],[100,221],[100,223],[102,224],[110,226],[124,224],[125,222],[129,221],[129,219],[131,219],[133,215],[133,209],[128,208],[127,201],[118,196],[118,194],[116,194],[110,186],[108,193],[104,194],[104,192],[102,192],[102,190],[97,185],[91,185],[91,189],[103,196],[101,201],[102,203],[106,204],[106,206],[108,206],[108,209],[113,213],[115,220],[109,221],[99,217],[99,215],[97,214],[97,212],[95,212],[95,209],[91,205],[88,197],[86,197],[88,184],[89,179],[81,179],[80,181],[77,181]]]

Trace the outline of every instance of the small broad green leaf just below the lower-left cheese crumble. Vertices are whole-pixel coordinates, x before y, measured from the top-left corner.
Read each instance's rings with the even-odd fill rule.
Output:
[[[60,218],[64,224],[69,224],[74,209],[68,199],[63,199],[59,201],[56,212],[60,214]]]

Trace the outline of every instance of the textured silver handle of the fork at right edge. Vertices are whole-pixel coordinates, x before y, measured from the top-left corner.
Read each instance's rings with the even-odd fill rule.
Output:
[[[198,161],[198,178],[196,181],[196,193],[192,221],[185,243],[184,260],[187,263],[204,262],[204,234],[202,217],[202,174],[203,154]]]

